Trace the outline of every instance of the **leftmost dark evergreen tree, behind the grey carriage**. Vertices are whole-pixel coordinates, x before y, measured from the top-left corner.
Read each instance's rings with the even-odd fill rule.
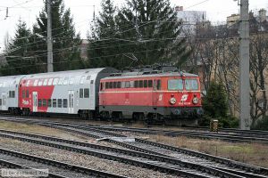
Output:
[[[31,47],[33,36],[25,21],[19,20],[14,38],[5,46],[6,64],[2,75],[20,75],[38,72],[37,59]]]

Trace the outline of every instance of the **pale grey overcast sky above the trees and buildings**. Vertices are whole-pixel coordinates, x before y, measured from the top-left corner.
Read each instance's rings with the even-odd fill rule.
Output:
[[[93,5],[96,6],[96,14],[100,10],[101,0],[64,0],[65,6],[71,8],[76,30],[85,38],[88,24],[93,17]],[[120,6],[125,0],[114,0]],[[203,2],[203,3],[202,3]],[[222,22],[232,13],[239,12],[238,2],[233,0],[171,0],[172,6],[182,5],[186,11],[206,11],[207,19],[213,22]],[[200,3],[200,4],[199,4]],[[0,51],[4,48],[4,36],[6,33],[13,36],[16,23],[21,18],[29,27],[36,22],[38,12],[43,7],[43,0],[0,0]],[[196,4],[196,5],[195,5]],[[6,7],[10,7],[8,17]],[[249,0],[249,9],[268,10],[267,0]]]

